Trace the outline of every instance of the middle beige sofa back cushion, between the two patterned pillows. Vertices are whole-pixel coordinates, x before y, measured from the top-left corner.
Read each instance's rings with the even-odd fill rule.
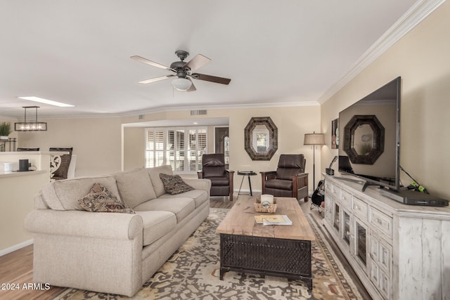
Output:
[[[156,198],[155,190],[146,169],[134,169],[131,171],[114,174],[117,181],[122,201],[127,207],[134,208],[137,205]]]

